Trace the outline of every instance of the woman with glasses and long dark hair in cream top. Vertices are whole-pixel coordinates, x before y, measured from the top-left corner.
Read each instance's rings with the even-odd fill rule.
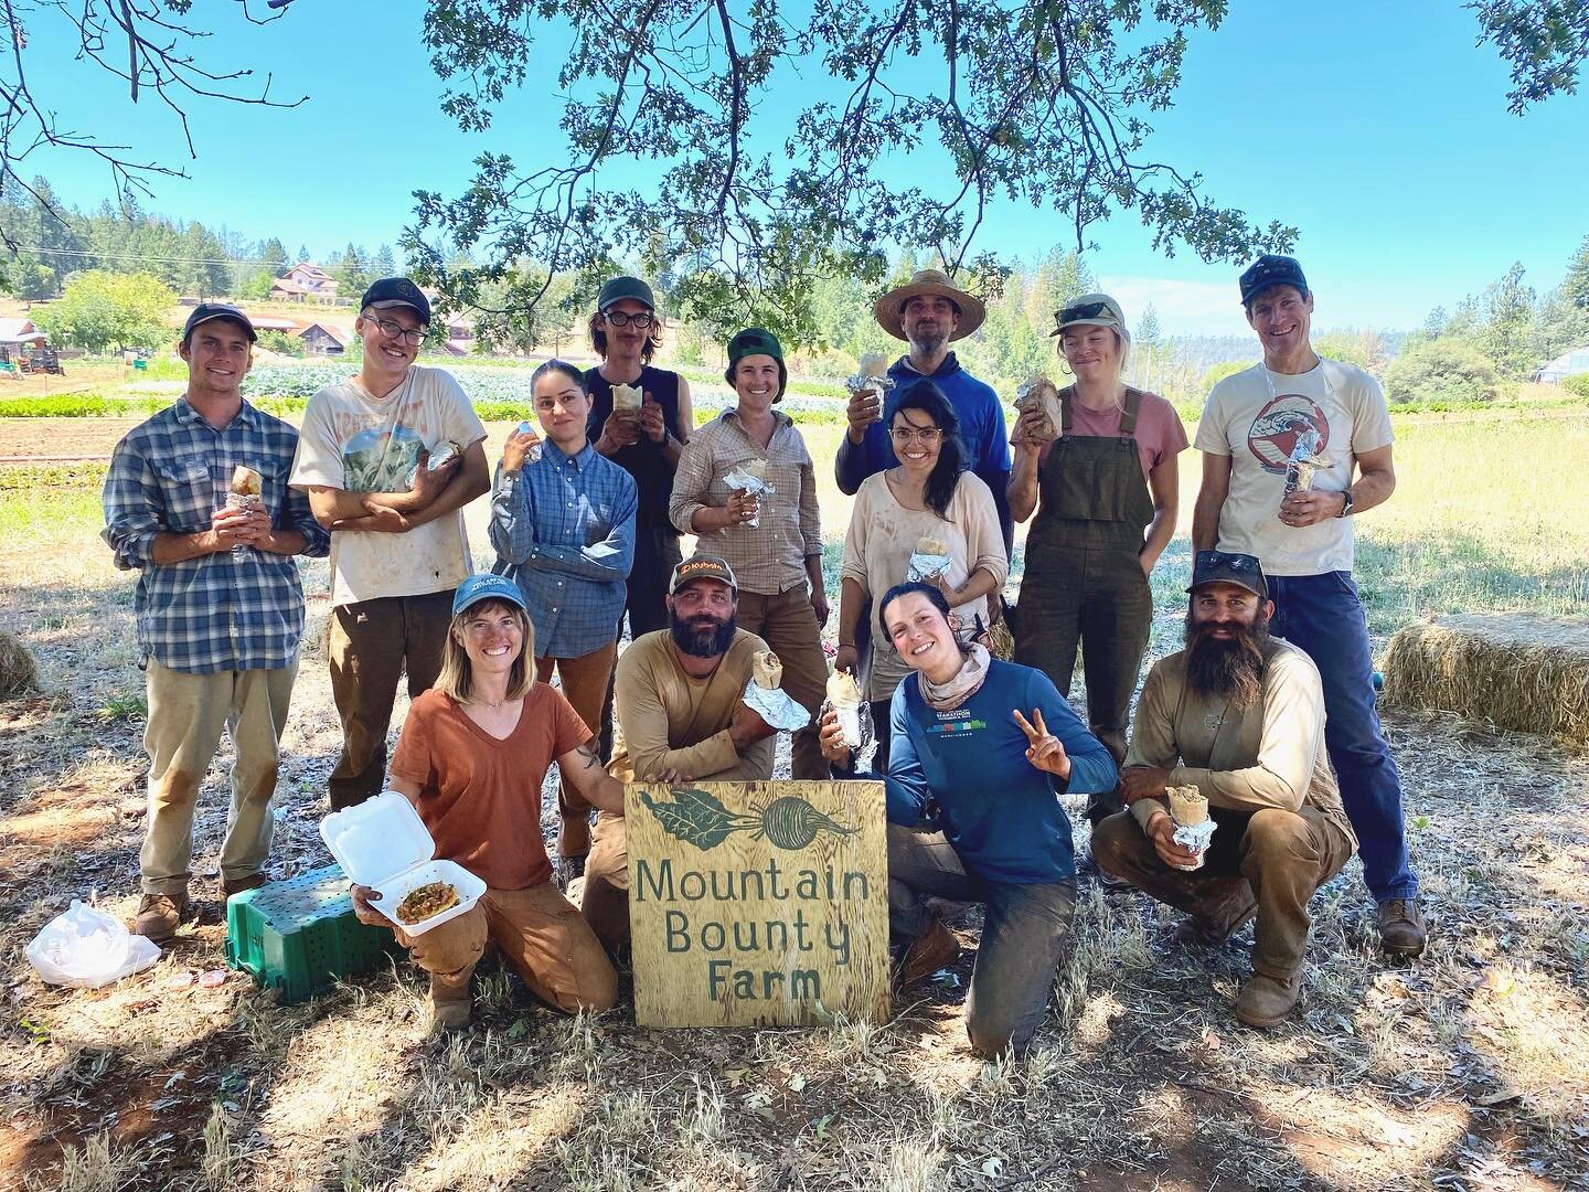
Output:
[[[910,556],[947,556],[949,566],[922,577],[936,586],[960,623],[988,621],[988,596],[1004,586],[1009,559],[992,490],[968,466],[960,418],[933,381],[918,381],[891,405],[888,437],[896,467],[874,472],[855,493],[844,536],[839,588],[839,653],[833,664],[858,674],[856,629],[864,609],[907,579]],[[868,642],[866,698],[877,728],[877,769],[888,763],[888,701],[910,668],[887,637]]]

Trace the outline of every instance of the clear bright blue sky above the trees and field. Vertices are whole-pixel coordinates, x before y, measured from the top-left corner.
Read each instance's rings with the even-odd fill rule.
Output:
[[[421,14],[408,0],[297,0],[264,29],[218,30],[203,46],[211,60],[254,62],[254,81],[273,72],[272,94],[310,102],[195,106],[192,180],[162,181],[149,207],[249,238],[275,234],[289,253],[303,243],[318,256],[348,240],[396,243],[410,192],[456,194],[483,149],[523,162],[556,151],[550,70],[493,132],[466,137],[437,111]],[[49,35],[43,16],[33,25],[40,64]],[[1457,0],[1238,0],[1216,35],[1193,41],[1176,108],[1157,114],[1149,149],[1201,172],[1212,199],[1301,229],[1319,327],[1416,326],[1513,261],[1548,289],[1589,234],[1589,94],[1511,116],[1506,67],[1476,38]],[[556,62],[556,40],[542,45]],[[95,132],[167,162],[184,156],[172,119],[148,103],[129,108],[124,84],[113,84],[79,65],[35,65],[35,86],[70,121],[92,119]],[[108,173],[83,156],[38,154],[33,165],[79,207],[108,192]],[[933,165],[926,154],[899,162],[904,172]],[[1006,257],[1034,257],[1068,235],[1061,216],[1015,205],[996,210],[988,229],[979,246]],[[1088,262],[1133,321],[1152,302],[1171,334],[1249,334],[1238,269],[1163,257],[1130,213],[1092,235]]]

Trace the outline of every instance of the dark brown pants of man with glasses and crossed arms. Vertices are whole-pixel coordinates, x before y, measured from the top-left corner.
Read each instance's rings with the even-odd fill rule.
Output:
[[[342,718],[342,757],[327,784],[332,811],[380,793],[397,679],[407,664],[410,699],[435,683],[451,618],[451,591],[385,596],[332,609],[331,696]]]

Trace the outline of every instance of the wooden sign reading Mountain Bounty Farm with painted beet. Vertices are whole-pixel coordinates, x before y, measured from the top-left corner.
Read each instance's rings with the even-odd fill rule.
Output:
[[[642,1027],[888,1019],[880,782],[631,784]]]

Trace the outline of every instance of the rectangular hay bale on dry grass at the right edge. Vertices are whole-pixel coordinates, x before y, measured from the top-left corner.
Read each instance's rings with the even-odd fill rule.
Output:
[[[1589,618],[1463,613],[1390,639],[1384,702],[1589,749]]]

